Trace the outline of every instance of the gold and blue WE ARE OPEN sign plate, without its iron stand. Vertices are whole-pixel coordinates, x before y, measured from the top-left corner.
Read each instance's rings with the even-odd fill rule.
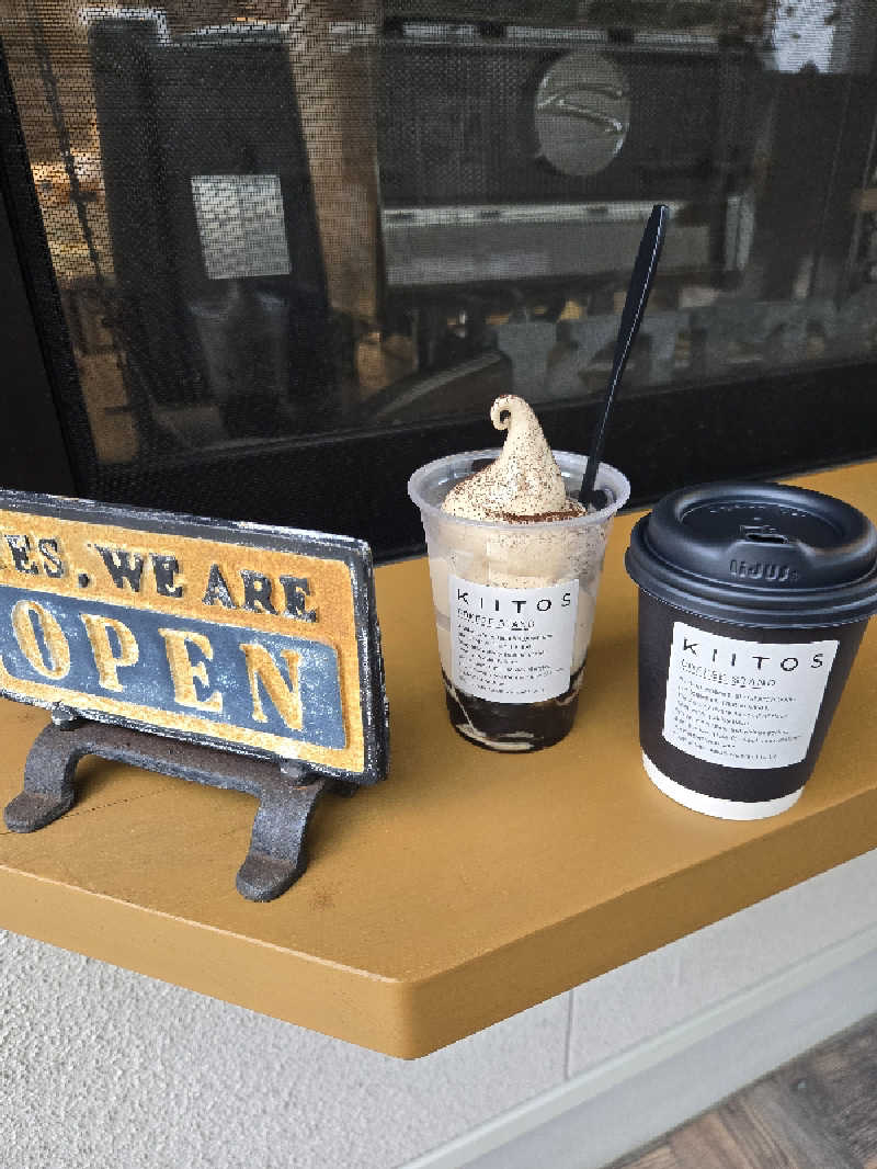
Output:
[[[387,721],[368,546],[0,492],[0,692],[372,783]]]

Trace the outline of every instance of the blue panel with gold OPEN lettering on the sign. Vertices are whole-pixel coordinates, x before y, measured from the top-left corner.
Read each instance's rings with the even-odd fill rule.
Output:
[[[147,711],[344,747],[331,645],[149,609],[0,589],[2,686],[54,683]]]

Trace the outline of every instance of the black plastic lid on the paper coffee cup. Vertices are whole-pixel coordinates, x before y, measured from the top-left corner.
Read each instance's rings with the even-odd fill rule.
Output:
[[[675,491],[636,524],[624,565],[658,601],[713,621],[813,628],[877,613],[877,530],[803,487]]]

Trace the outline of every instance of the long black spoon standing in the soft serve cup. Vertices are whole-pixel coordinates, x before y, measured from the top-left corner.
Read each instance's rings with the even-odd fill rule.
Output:
[[[591,443],[588,465],[581,483],[581,490],[579,491],[579,503],[585,504],[586,507],[594,506],[600,509],[605,507],[609,502],[605,491],[594,490],[594,479],[596,478],[600,459],[603,455],[615,390],[619,388],[627,359],[636,334],[640,331],[640,323],[645,312],[645,305],[649,303],[649,292],[651,292],[658,260],[661,258],[661,248],[664,242],[664,233],[667,231],[667,221],[669,217],[670,208],[663,203],[655,203],[651,208],[651,215],[649,215],[649,222],[645,224],[642,240],[640,241],[640,250],[636,254],[630,286],[627,290],[624,309],[621,313],[621,325],[619,327],[619,338],[615,341],[615,357],[612,362],[609,385],[606,387],[603,408]]]

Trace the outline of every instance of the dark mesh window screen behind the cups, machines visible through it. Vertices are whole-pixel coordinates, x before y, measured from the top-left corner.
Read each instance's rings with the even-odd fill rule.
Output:
[[[626,392],[873,354],[872,5],[0,14],[97,466],[593,395],[658,200]]]

